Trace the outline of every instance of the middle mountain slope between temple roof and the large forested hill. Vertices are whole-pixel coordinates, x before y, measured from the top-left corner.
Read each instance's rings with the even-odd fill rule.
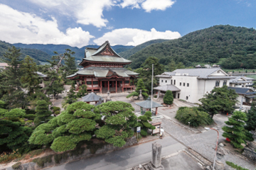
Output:
[[[148,45],[152,45],[152,44],[155,44],[155,43],[159,43],[159,42],[165,42],[167,40],[150,40],[148,42],[144,42],[143,44],[141,45],[137,45],[136,47],[133,47],[132,49],[130,50],[126,50],[124,52],[120,52],[119,55],[124,57],[125,59],[129,58],[131,55],[134,55],[134,53],[138,52],[139,50],[142,50],[144,49],[146,46]]]

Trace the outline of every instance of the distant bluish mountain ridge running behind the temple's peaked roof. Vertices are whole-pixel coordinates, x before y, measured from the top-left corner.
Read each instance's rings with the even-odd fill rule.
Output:
[[[87,45],[85,47],[71,47],[70,45],[53,45],[53,44],[48,44],[48,45],[43,45],[43,44],[22,44],[22,43],[16,43],[14,44],[15,47],[21,47],[21,48],[28,48],[28,49],[37,49],[41,50],[43,52],[46,52],[48,55],[52,56],[54,55],[53,52],[58,52],[59,54],[62,54],[65,52],[65,49],[70,49],[73,52],[75,52],[75,60],[82,60],[82,58],[85,56],[85,47],[92,47],[92,48],[97,48],[100,47],[99,45]],[[124,45],[114,45],[112,48],[117,52],[123,52],[125,50],[129,50],[134,46],[124,46]]]

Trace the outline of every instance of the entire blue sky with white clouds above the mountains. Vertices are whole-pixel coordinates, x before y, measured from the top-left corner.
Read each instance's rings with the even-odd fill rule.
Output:
[[[256,28],[255,0],[0,0],[0,40],[139,45],[219,24]]]

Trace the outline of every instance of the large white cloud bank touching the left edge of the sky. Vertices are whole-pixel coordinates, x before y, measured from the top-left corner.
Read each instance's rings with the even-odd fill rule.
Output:
[[[16,11],[0,4],[0,40],[25,44],[66,44],[73,47],[87,45],[94,36],[82,28],[68,28],[65,33],[58,29],[55,18],[45,20],[31,13]]]

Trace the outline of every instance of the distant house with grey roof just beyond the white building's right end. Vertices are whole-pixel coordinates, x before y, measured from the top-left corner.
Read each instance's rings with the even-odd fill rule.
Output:
[[[252,87],[253,81],[250,77],[235,77],[235,79],[230,80],[230,86],[232,87]]]

